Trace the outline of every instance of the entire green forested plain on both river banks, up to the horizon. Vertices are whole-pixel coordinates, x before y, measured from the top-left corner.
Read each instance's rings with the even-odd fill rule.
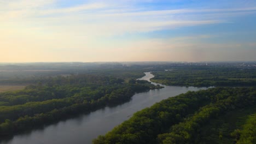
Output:
[[[256,143],[255,63],[39,63],[1,65],[0,140],[117,106],[163,88],[136,80],[211,87],[171,97],[133,114],[93,143]],[[185,88],[185,87],[184,87]],[[0,141],[1,142],[1,141]]]

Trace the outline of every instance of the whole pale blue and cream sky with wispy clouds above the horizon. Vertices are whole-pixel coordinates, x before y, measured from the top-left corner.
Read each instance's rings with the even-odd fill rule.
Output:
[[[0,0],[0,62],[256,61],[255,0]]]

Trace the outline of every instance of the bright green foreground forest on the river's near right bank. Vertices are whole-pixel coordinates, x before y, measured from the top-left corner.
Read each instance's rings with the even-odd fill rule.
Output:
[[[188,92],[136,112],[93,143],[255,143],[255,104],[256,88],[252,87]],[[218,132],[217,137],[205,134],[207,125],[241,110],[242,116],[233,115],[216,129],[211,127],[212,132]],[[242,124],[236,123],[238,119]],[[230,121],[232,127],[224,127]]]

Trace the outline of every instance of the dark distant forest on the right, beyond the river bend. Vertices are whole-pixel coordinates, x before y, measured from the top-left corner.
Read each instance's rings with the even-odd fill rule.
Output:
[[[256,86],[256,67],[191,65],[153,74],[153,82],[172,86]]]

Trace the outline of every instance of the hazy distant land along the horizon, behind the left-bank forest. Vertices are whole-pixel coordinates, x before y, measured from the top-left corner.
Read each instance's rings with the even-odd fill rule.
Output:
[[[125,81],[143,76],[144,71],[164,70],[168,64],[158,63],[0,63],[0,85],[45,83],[49,77],[93,74],[113,76]]]

